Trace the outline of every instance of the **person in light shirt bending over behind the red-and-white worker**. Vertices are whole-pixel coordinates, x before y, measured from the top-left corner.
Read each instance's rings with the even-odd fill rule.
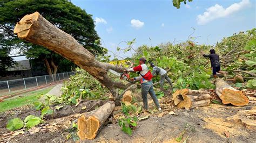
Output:
[[[155,66],[154,63],[152,63],[152,62],[150,63],[150,66],[153,68],[153,70],[152,70],[153,76],[160,75],[160,81],[159,81],[160,89],[162,91],[165,91],[164,90],[164,80],[166,80],[171,85],[171,91],[172,91],[172,81],[171,81],[171,78],[168,77],[167,71],[164,70],[163,68]]]

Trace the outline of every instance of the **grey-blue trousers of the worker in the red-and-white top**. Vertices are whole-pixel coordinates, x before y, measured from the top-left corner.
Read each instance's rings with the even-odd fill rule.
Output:
[[[142,99],[143,99],[143,108],[147,109],[147,93],[149,92],[152,97],[154,104],[156,104],[157,108],[160,108],[158,99],[153,89],[153,82],[148,81],[146,83],[142,83]]]

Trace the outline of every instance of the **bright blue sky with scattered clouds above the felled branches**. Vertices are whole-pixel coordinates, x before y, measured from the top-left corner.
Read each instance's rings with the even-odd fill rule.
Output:
[[[92,15],[103,46],[113,52],[119,42],[134,38],[134,48],[151,42],[156,46],[174,39],[185,41],[193,32],[191,27],[196,28],[192,37],[198,37],[198,44],[210,45],[235,32],[256,27],[255,0],[193,0],[187,5],[182,3],[180,9],[171,0],[71,2]],[[127,55],[130,53],[122,54]]]

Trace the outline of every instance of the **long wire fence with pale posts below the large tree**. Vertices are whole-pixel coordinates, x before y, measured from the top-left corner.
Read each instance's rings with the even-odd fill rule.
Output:
[[[52,82],[61,81],[75,75],[75,72],[60,73],[55,75],[43,75],[17,80],[0,81],[0,96],[12,94],[18,91],[35,88]]]

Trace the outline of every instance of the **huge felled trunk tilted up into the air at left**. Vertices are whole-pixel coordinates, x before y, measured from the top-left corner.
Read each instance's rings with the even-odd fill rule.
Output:
[[[14,33],[18,35],[18,38],[44,46],[85,69],[104,84],[114,97],[117,95],[116,88],[126,89],[130,85],[114,82],[107,76],[109,69],[122,72],[124,68],[97,61],[95,56],[80,45],[75,38],[48,22],[38,12],[24,16],[16,24]]]

